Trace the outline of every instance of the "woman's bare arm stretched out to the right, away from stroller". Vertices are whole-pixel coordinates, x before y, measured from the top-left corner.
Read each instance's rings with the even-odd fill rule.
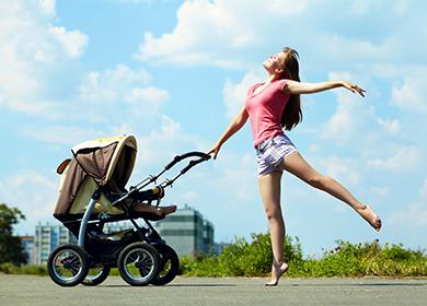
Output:
[[[347,81],[330,81],[319,83],[301,83],[289,80],[284,86],[284,93],[287,94],[313,94],[336,87],[345,87],[353,93],[365,96],[366,91],[358,85]]]

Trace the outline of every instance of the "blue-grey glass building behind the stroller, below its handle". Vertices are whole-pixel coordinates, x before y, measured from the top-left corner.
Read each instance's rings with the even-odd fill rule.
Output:
[[[197,210],[186,204],[174,214],[158,221],[154,227],[180,257],[212,251],[212,223],[204,220]]]

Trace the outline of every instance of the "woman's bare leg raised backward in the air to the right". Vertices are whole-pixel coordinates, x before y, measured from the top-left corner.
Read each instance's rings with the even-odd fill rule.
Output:
[[[308,162],[295,152],[288,155],[280,167],[310,184],[314,188],[323,190],[331,196],[350,205],[361,217],[363,217],[374,229],[380,231],[381,220],[368,205],[359,202],[343,185],[335,179],[319,174]]]

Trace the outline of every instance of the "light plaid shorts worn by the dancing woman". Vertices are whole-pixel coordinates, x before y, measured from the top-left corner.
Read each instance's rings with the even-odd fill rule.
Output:
[[[279,166],[284,158],[289,154],[297,152],[297,148],[285,134],[264,140],[255,150],[258,175],[280,172]]]

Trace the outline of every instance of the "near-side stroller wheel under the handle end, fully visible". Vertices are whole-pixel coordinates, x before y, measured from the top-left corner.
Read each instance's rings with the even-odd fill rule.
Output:
[[[118,256],[118,272],[125,282],[132,286],[148,285],[158,274],[159,254],[146,243],[134,243],[125,247]]]

